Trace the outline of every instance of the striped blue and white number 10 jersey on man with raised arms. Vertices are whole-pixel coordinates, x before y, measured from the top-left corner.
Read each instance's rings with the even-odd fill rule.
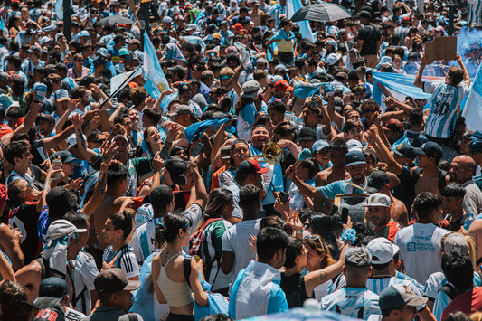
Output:
[[[424,82],[423,91],[432,94],[425,134],[449,138],[455,127],[460,101],[468,92],[468,84],[462,81],[454,87],[441,81]]]

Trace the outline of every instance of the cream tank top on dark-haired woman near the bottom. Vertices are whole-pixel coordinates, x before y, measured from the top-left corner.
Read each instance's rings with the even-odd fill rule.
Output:
[[[171,307],[183,307],[194,302],[193,292],[191,288],[184,280],[184,282],[175,282],[167,277],[165,269],[177,256],[177,254],[167,261],[165,267],[161,265],[161,270],[159,273],[159,278],[157,279],[157,285],[161,289],[167,304]]]

